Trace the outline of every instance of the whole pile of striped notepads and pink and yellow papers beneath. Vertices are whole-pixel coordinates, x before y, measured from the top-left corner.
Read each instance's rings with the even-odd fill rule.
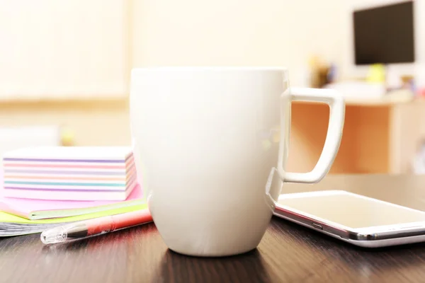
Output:
[[[0,237],[135,210],[149,214],[130,147],[18,149],[4,154],[3,169]]]

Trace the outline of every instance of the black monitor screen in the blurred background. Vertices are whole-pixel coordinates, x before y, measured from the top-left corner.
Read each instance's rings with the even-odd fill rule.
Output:
[[[412,1],[355,11],[356,64],[414,62],[413,22]]]

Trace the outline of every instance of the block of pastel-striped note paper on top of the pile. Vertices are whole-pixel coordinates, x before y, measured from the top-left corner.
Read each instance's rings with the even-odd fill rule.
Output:
[[[126,200],[137,185],[127,146],[48,146],[3,156],[4,197]]]

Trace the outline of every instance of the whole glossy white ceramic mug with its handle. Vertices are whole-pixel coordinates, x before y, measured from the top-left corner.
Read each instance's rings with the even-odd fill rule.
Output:
[[[293,100],[330,106],[324,149],[309,173],[285,171]],[[273,168],[283,182],[321,180],[339,149],[344,111],[335,91],[290,88],[281,68],[133,69],[138,170],[166,245],[198,256],[256,248],[273,212],[266,195],[280,194],[280,181],[266,189]]]

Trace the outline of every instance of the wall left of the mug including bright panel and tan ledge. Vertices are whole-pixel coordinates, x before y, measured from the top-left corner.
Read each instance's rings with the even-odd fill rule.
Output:
[[[1,1],[0,127],[65,125],[77,145],[129,144],[130,3]]]

